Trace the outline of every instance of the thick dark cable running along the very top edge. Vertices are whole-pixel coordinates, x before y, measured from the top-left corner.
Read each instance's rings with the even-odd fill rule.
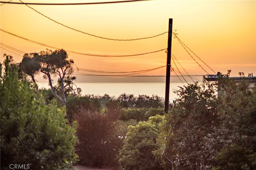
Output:
[[[94,4],[114,4],[114,3],[124,3],[124,2],[139,2],[139,1],[148,1],[148,0],[123,0],[123,1],[110,1],[110,2],[83,2],[83,3],[19,3],[19,2],[4,2],[0,3],[6,4],[28,4],[28,5],[94,5]]]

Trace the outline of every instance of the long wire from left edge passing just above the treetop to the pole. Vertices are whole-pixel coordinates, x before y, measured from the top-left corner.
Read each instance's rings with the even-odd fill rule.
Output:
[[[30,40],[30,39],[27,39],[27,38],[24,38],[24,37],[21,37],[19,35],[16,35],[14,33],[10,33],[8,31],[5,31],[4,29],[1,29],[1,31],[5,32],[5,33],[8,33],[10,35],[13,35],[15,37],[18,37],[18,38],[21,38],[21,39],[24,39],[26,41],[30,41],[32,43],[35,43],[35,44],[38,44],[38,45],[42,45],[44,47],[49,47],[49,48],[52,48],[52,49],[60,49],[60,48],[57,48],[57,47],[53,47],[53,46],[50,46],[50,45],[46,45],[46,44],[43,44],[43,43],[39,43],[37,41],[33,41],[33,40]],[[157,53],[159,51],[164,51],[165,49],[160,49],[160,50],[157,50],[157,51],[152,51],[152,52],[148,52],[148,53],[140,53],[140,54],[133,54],[133,55],[98,55],[98,54],[88,54],[88,53],[80,53],[80,52],[76,52],[76,51],[70,51],[70,50],[65,50],[69,53],[75,53],[75,54],[80,54],[80,55],[88,55],[88,56],[95,56],[95,57],[130,57],[130,56],[138,56],[138,55],[146,55],[146,54],[150,54],[150,53]]]

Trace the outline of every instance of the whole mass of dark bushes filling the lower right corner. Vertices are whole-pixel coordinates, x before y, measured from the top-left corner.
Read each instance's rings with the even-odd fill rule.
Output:
[[[220,78],[189,84],[166,115],[154,151],[166,169],[256,169],[256,86]]]

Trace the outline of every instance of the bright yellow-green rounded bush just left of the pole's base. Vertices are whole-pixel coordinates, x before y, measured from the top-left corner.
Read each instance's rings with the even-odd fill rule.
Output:
[[[158,149],[156,138],[163,116],[150,117],[148,121],[128,127],[124,146],[120,150],[119,163],[125,170],[157,170],[160,162],[154,159],[152,151]]]

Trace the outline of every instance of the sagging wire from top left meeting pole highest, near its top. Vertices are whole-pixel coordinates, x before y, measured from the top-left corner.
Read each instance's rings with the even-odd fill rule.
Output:
[[[20,2],[22,2],[22,1],[20,0]],[[23,2],[22,2],[22,3],[23,3]],[[26,4],[26,3],[25,3],[25,4]],[[39,12],[39,11],[35,10],[34,8],[28,6],[27,4],[26,4],[26,6],[27,6],[28,8],[31,8],[32,10],[34,10],[35,12],[37,12],[38,14],[44,16],[45,18],[48,18],[49,20],[54,21],[55,23],[58,23],[58,24],[60,24],[60,25],[62,25],[62,26],[64,26],[64,27],[67,27],[67,28],[72,29],[72,30],[74,30],[74,31],[78,31],[78,32],[80,32],[80,33],[84,33],[84,34],[87,34],[87,35],[90,35],[90,36],[93,36],[93,37],[101,38],[101,39],[108,39],[108,40],[113,40],[113,41],[134,41],[134,40],[140,40],[140,39],[148,39],[148,38],[158,37],[158,36],[160,36],[160,35],[163,35],[163,34],[165,34],[165,33],[168,33],[168,32],[164,32],[164,33],[160,33],[160,34],[158,34],[158,35],[154,35],[154,36],[150,36],[150,37],[143,37],[143,38],[136,38],[136,39],[112,39],[112,38],[106,38],[106,37],[101,37],[101,36],[98,36],[98,35],[93,35],[93,34],[91,34],[91,33],[86,33],[86,32],[84,32],[84,31],[80,31],[80,30],[78,30],[78,29],[69,27],[69,26],[67,26],[67,25],[64,25],[63,23],[60,23],[60,22],[58,22],[58,21],[56,21],[56,20],[51,19],[50,17],[48,17],[48,16],[42,14],[41,12]]]

